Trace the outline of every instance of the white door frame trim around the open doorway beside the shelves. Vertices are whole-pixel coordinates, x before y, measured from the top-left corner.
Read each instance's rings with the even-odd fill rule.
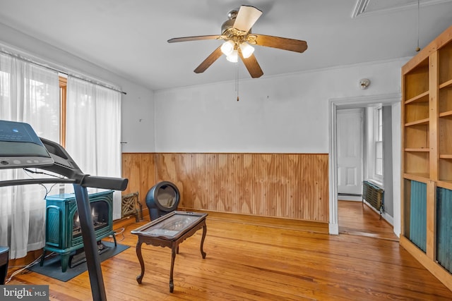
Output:
[[[368,106],[386,105],[393,108],[392,118],[392,149],[390,156],[393,159],[391,170],[394,187],[400,187],[400,94],[381,94],[371,97],[350,97],[343,99],[330,99],[329,103],[329,233],[339,233],[338,223],[338,110],[359,109]],[[340,117],[339,117],[340,118]],[[391,191],[392,192],[392,191]],[[400,191],[393,191],[393,233],[400,234]]]

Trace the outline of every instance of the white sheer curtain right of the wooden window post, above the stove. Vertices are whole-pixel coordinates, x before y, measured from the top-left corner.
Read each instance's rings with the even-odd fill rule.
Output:
[[[83,173],[121,177],[121,94],[68,76],[66,150]],[[89,192],[89,191],[88,191]],[[114,192],[113,219],[121,218]]]

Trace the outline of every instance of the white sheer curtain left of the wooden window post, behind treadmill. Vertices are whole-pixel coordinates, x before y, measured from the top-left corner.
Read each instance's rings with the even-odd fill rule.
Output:
[[[0,119],[30,123],[38,136],[58,142],[58,73],[0,54]],[[0,170],[0,181],[28,177],[23,169]],[[46,193],[40,185],[0,188],[0,245],[10,247],[11,259],[44,246]]]

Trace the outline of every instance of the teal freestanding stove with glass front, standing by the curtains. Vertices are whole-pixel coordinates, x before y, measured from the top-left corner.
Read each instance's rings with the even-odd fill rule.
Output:
[[[88,191],[93,226],[97,242],[112,235],[113,190]],[[61,193],[46,197],[46,242],[40,265],[44,264],[46,251],[60,255],[61,271],[65,272],[74,251],[83,248],[81,226],[78,220],[76,195]]]

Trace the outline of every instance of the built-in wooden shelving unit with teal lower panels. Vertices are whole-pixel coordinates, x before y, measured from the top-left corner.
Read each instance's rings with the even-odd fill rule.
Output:
[[[403,66],[402,85],[400,245],[452,290],[452,26]]]

